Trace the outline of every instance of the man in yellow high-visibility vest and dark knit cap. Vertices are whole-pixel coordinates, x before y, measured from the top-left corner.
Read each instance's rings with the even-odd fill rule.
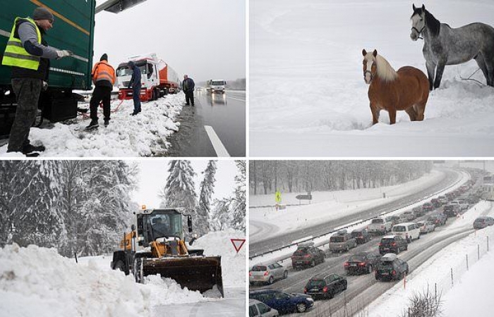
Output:
[[[54,15],[47,8],[35,8],[32,18],[16,18],[2,58],[2,65],[12,66],[11,84],[16,94],[17,109],[8,152],[26,156],[44,151],[44,146],[29,142],[29,130],[36,119],[37,104],[42,88],[47,87],[49,60],[72,56],[71,51],[57,50],[47,45],[44,34],[53,27]]]

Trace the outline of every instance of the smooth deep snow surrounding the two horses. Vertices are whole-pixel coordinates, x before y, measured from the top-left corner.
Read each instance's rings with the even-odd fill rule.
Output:
[[[423,1],[441,23],[494,25],[488,0]],[[252,0],[251,156],[494,156],[494,89],[475,61],[446,66],[423,122],[371,126],[362,49],[426,73],[412,1]],[[416,2],[421,6],[422,2]]]

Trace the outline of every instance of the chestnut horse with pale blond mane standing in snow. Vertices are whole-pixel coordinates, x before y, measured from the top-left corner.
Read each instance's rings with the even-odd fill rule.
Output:
[[[378,51],[363,55],[363,80],[370,84],[368,97],[372,124],[378,123],[382,109],[390,113],[390,124],[396,123],[396,111],[404,110],[411,121],[423,120],[429,97],[426,74],[411,66],[394,70]]]

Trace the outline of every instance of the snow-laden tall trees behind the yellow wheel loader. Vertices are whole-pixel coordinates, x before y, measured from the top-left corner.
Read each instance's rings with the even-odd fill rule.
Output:
[[[202,174],[199,199],[190,162],[168,164],[163,206],[190,210],[199,235],[245,232],[245,161],[236,161],[231,195],[213,201],[215,161]],[[0,247],[37,244],[63,256],[114,251],[139,208],[130,196],[138,175],[138,164],[126,161],[0,161]]]

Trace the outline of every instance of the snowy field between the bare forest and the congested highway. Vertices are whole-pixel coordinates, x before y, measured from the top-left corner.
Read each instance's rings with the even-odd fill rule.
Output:
[[[265,223],[270,226],[270,231],[257,230],[255,223],[250,223],[249,238],[251,242],[257,242],[259,240],[265,240],[267,237],[275,237],[276,235],[286,234],[294,230],[299,230],[302,227],[312,227],[321,222],[327,222],[333,219],[347,216],[351,213],[359,213],[364,209],[370,209],[375,206],[386,204],[390,201],[400,199],[409,194],[419,192],[421,189],[433,185],[442,178],[443,172],[440,170],[432,170],[431,173],[414,180],[406,182],[401,185],[373,188],[373,189],[355,189],[344,190],[338,192],[313,192],[313,198],[315,199],[312,204],[308,205],[304,203],[301,206],[287,206],[285,210],[276,211],[273,207],[263,207],[256,209],[249,209],[250,220],[258,223]],[[450,192],[460,187],[464,182],[469,180],[469,175],[466,173],[459,173],[457,183],[445,192]],[[386,198],[382,198],[382,193],[386,193]],[[439,196],[442,193],[437,193],[434,196],[429,197],[432,199]],[[258,204],[266,204],[268,195],[260,195],[250,197],[250,205],[256,206]],[[285,195],[289,196],[289,201],[294,199],[296,194]],[[293,196],[293,197],[292,197]],[[274,203],[274,194],[269,195],[271,201]],[[287,200],[285,199],[285,200]],[[283,204],[287,203],[284,200]],[[420,206],[424,201],[418,202],[407,206],[404,209],[399,209],[394,213],[402,213],[414,206]],[[295,203],[295,202],[294,202]]]

